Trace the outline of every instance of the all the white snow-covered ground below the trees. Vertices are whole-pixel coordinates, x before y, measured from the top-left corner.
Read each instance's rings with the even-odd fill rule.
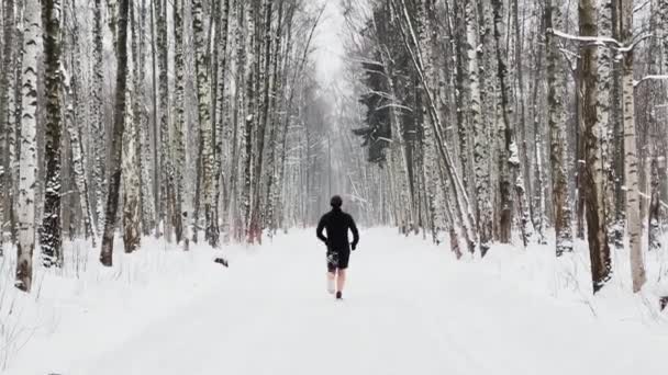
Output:
[[[655,374],[668,359],[658,264],[632,295],[624,261],[590,296],[582,245],[455,257],[392,229],[361,232],[343,302],[325,292],[313,230],[188,253],[146,239],[103,270],[82,242],[37,270],[30,296],[0,275],[0,365],[11,375]],[[446,242],[447,243],[447,242]],[[9,249],[8,249],[9,250]],[[654,257],[654,258],[652,258]],[[0,260],[2,262],[2,260]],[[75,265],[76,264],[76,265]],[[11,314],[10,314],[11,311]]]

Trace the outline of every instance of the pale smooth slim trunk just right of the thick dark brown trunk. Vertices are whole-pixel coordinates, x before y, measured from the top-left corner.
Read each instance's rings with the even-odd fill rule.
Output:
[[[633,43],[633,1],[622,2],[622,41]],[[622,95],[624,100],[624,180],[626,183],[626,230],[628,234],[631,275],[633,292],[639,292],[645,284],[643,261],[641,195],[638,191],[638,160],[635,136],[635,109],[633,92],[633,48],[624,54],[622,70]]]

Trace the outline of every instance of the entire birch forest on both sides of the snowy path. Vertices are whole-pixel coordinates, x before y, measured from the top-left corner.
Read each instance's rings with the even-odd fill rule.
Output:
[[[330,3],[3,0],[16,287],[75,238],[107,266],[146,236],[260,243],[334,193],[458,258],[584,240],[594,293],[624,251],[643,287],[668,225],[668,1]],[[345,47],[327,87],[326,7]]]

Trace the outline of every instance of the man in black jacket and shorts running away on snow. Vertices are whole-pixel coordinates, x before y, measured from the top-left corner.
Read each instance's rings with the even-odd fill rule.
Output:
[[[332,211],[320,219],[315,234],[327,246],[327,291],[334,293],[334,280],[336,279],[336,298],[341,299],[350,248],[353,250],[357,248],[359,232],[353,216],[341,209],[343,204],[341,196],[334,195],[330,204]],[[327,230],[327,237],[323,236],[323,229]],[[353,232],[353,243],[348,242],[348,229]]]

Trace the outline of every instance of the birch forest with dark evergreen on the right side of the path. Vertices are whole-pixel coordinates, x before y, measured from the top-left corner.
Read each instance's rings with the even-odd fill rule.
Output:
[[[583,239],[594,293],[615,249],[642,288],[667,225],[667,1],[343,3],[347,124],[393,225],[458,257]]]

